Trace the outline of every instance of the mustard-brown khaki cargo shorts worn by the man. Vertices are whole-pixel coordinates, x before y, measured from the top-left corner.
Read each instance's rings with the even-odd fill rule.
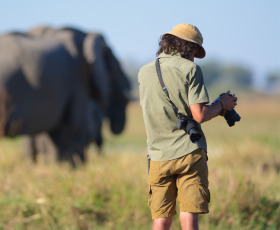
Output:
[[[204,149],[170,161],[151,161],[149,206],[152,218],[176,215],[176,197],[181,212],[208,213],[207,154]]]

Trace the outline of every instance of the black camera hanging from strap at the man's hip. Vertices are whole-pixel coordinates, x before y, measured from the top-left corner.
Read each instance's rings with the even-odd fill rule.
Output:
[[[196,143],[201,138],[201,133],[199,132],[195,121],[192,118],[188,118],[184,115],[180,115],[178,118],[176,127],[178,129],[183,129],[187,134],[190,135],[192,143]]]

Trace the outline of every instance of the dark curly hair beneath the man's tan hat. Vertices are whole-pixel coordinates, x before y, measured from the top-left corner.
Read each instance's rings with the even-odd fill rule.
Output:
[[[162,52],[166,54],[180,53],[181,57],[188,59],[196,47],[198,45],[193,42],[183,40],[171,34],[164,34],[160,37],[159,49],[156,56]]]

